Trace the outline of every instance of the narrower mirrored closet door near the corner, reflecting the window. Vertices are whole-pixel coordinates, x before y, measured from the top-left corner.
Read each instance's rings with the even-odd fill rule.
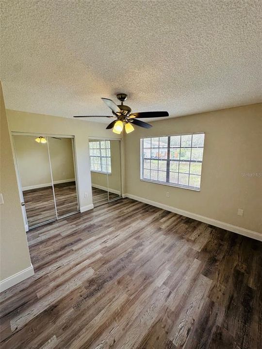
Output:
[[[122,197],[120,140],[89,140],[94,207]]]

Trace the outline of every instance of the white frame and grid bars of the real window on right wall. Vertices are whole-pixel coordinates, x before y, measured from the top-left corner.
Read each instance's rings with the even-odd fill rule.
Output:
[[[192,140],[193,140],[193,136],[194,135],[198,135],[198,134],[201,134],[201,135],[204,135],[203,137],[203,145],[202,146],[192,146]],[[180,146],[176,146],[176,147],[171,147],[170,146],[170,140],[171,140],[171,137],[176,137],[176,136],[180,136]],[[191,136],[191,146],[181,146],[181,136]],[[149,147],[145,147],[144,148],[144,140],[145,139],[152,139],[152,138],[162,138],[162,137],[167,137],[167,147],[164,149],[167,149],[167,156],[166,156],[166,159],[161,159],[161,158],[152,158],[152,149],[154,149],[154,147],[152,147],[152,143],[150,145],[150,148]],[[200,191],[200,187],[201,187],[201,175],[202,175],[202,163],[203,163],[203,155],[202,155],[202,159],[201,160],[194,160],[192,159],[192,149],[197,149],[197,148],[201,148],[203,149],[203,152],[204,152],[204,142],[205,142],[205,133],[204,132],[196,132],[196,133],[184,133],[184,134],[175,134],[175,135],[164,135],[164,136],[152,136],[152,137],[144,137],[144,138],[141,138],[140,139],[140,180],[141,181],[146,181],[146,182],[150,182],[150,183],[157,183],[157,184],[162,184],[162,185],[167,185],[167,186],[171,186],[171,187],[178,187],[178,188],[183,188],[183,189],[189,189],[189,190],[195,190],[195,191]],[[180,149],[181,148],[188,148],[190,149],[190,159],[188,160],[180,160],[179,159],[171,159],[170,158],[170,150],[172,150],[173,148],[176,148],[176,149]],[[150,158],[144,158],[144,149],[150,149]],[[160,145],[159,147],[155,148],[155,149],[161,149]],[[180,151],[179,151],[180,153]],[[158,155],[159,156],[159,155]],[[150,161],[150,169],[145,169],[144,168],[144,160],[147,160],[147,161]],[[161,180],[155,180],[155,179],[149,179],[149,178],[145,178],[144,177],[144,170],[149,170],[150,171],[150,176],[151,176],[151,161],[152,160],[164,160],[166,161],[166,170],[164,171],[163,170],[163,173],[165,172],[165,181],[161,181]],[[173,172],[173,171],[170,171],[170,164],[174,163],[174,162],[177,162],[178,163],[178,171],[177,172]],[[184,173],[184,172],[180,172],[180,163],[181,162],[189,162],[189,170],[187,173]],[[200,174],[193,174],[193,173],[190,173],[190,167],[191,167],[191,163],[201,163],[201,170],[200,170]],[[161,170],[159,170],[159,162],[158,162],[158,169],[154,169],[154,171],[157,171],[158,172],[158,177],[159,177],[159,172],[162,172]],[[183,185],[183,184],[179,184],[179,183],[171,183],[170,182],[170,174],[173,173],[177,173],[178,174],[178,182],[179,182],[179,175],[180,174],[188,174],[188,185]],[[199,187],[195,187],[195,186],[190,186],[189,185],[189,181],[190,181],[190,174],[191,176],[199,176],[200,177],[200,182],[199,182]]]

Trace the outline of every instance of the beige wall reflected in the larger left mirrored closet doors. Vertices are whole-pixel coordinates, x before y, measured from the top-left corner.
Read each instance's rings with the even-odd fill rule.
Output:
[[[23,190],[51,185],[47,143],[36,136],[14,135],[16,159]],[[72,139],[48,137],[52,176],[55,183],[75,178]]]

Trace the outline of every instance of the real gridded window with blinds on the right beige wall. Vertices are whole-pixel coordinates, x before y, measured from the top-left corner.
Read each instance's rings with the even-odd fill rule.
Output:
[[[141,179],[200,189],[204,133],[141,139]]]

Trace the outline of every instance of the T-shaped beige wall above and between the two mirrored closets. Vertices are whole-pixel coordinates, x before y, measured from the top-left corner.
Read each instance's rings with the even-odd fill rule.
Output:
[[[79,201],[81,210],[92,205],[92,187],[89,165],[88,138],[121,139],[112,130],[106,130],[106,124],[88,122],[79,119],[34,114],[23,111],[7,110],[10,130],[13,132],[38,133],[49,135],[71,135],[75,137],[76,174],[79,181]],[[120,137],[119,137],[120,136]],[[85,197],[87,193],[87,197]]]

